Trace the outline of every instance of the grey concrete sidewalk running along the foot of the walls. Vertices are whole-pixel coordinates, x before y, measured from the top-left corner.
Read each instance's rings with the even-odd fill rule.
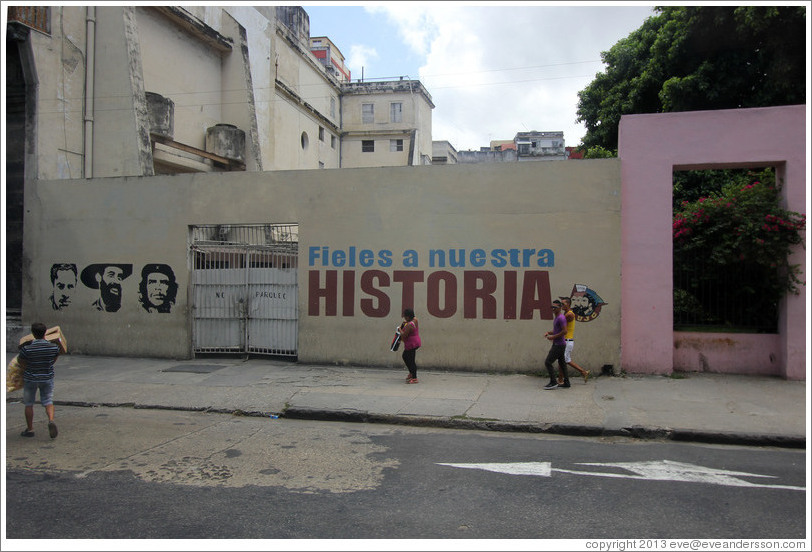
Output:
[[[13,354],[7,351],[6,364]],[[55,404],[460,429],[627,436],[804,448],[806,382],[690,373],[595,376],[545,391],[546,377],[308,365],[270,359],[65,355]],[[6,394],[10,420],[22,391]],[[22,410],[22,406],[19,405]],[[22,412],[19,416],[23,425]]]

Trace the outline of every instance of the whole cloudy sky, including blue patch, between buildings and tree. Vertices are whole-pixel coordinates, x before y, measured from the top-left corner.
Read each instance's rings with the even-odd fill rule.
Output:
[[[577,146],[578,92],[601,52],[651,15],[646,2],[304,2],[352,79],[418,79],[432,97],[432,139],[478,150],[517,132],[563,131]]]

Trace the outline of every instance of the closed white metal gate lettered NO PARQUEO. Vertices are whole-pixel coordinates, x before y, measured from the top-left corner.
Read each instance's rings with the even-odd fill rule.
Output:
[[[195,353],[297,356],[299,226],[191,228]]]

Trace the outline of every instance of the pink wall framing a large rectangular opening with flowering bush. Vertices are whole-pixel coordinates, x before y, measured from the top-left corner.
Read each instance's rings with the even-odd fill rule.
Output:
[[[678,169],[777,167],[786,207],[806,213],[803,105],[625,115],[620,120],[621,364],[670,374],[672,322],[671,175]],[[794,262],[805,265],[802,249]],[[801,276],[805,280],[805,275]],[[806,289],[788,296],[779,322],[778,375],[806,379]],[[775,373],[765,366],[764,374]]]

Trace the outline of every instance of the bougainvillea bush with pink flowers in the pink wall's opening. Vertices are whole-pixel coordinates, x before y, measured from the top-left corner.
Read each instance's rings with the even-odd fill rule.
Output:
[[[781,207],[772,169],[682,201],[673,220],[675,323],[775,331],[780,299],[804,285],[789,256],[805,226],[803,214]]]

